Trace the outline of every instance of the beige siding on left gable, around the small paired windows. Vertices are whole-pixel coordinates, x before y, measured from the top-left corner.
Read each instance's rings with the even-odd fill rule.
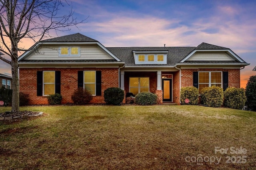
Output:
[[[37,53],[31,55],[28,60],[109,60],[113,59],[108,53],[97,45],[74,45],[80,47],[80,57],[60,57],[59,47],[66,45],[45,46],[38,49]]]

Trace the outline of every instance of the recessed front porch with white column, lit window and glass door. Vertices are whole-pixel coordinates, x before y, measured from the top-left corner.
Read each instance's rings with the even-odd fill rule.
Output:
[[[161,104],[180,103],[180,73],[166,70],[121,70],[120,88],[134,96],[152,92]]]

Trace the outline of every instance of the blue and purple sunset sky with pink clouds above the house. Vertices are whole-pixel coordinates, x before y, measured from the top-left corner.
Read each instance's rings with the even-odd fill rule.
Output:
[[[105,47],[228,47],[249,66],[241,70],[241,87],[256,75],[255,0],[73,0],[74,17],[86,23],[58,32],[82,33]],[[65,6],[60,11],[70,10]],[[53,36],[57,36],[53,34]],[[22,44],[23,43],[23,44]],[[30,47],[33,42],[20,45]],[[6,57],[8,59],[8,57]],[[10,75],[0,61],[0,73]]]

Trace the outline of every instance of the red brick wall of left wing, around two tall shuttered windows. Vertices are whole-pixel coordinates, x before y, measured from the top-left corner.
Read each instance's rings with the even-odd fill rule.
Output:
[[[29,94],[30,104],[48,104],[45,96],[37,96],[37,71],[61,71],[62,104],[73,103],[71,96],[78,87],[79,70],[101,71],[101,96],[94,96],[91,103],[104,103],[104,90],[118,87],[118,68],[20,68],[20,92]]]

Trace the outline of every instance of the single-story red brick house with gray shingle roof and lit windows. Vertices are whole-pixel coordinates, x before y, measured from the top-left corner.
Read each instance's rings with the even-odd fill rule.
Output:
[[[72,103],[78,87],[104,103],[104,90],[146,91],[161,102],[180,103],[180,88],[240,87],[240,68],[249,65],[232,50],[207,43],[198,47],[104,47],[80,33],[40,41],[19,57],[20,91],[30,104],[47,104],[60,93]]]

